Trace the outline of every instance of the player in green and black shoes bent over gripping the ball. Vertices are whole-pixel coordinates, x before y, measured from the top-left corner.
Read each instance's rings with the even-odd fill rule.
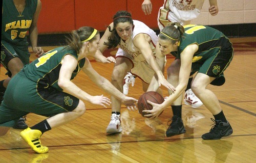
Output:
[[[172,123],[166,131],[167,137],[185,133],[181,119],[182,94],[186,89],[189,76],[198,72],[191,89],[214,116],[215,126],[210,132],[202,135],[204,140],[221,139],[230,135],[233,130],[226,120],[220,102],[216,95],[207,89],[207,85],[221,86],[225,83],[223,72],[233,58],[232,43],[220,31],[204,25],[185,25],[180,23],[165,26],[158,36],[156,59],[163,69],[164,57],[169,53],[180,60],[180,67],[168,67],[168,82],[176,87],[176,91],[169,91],[168,98],[162,104],[149,102],[153,110],[145,117],[155,118],[168,106],[172,105]],[[173,72],[179,70],[179,74]],[[175,75],[177,74],[177,75]],[[148,91],[158,89],[156,79],[153,78]]]

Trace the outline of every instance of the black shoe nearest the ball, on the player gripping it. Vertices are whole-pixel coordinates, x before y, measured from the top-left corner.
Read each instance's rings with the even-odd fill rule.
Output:
[[[170,121],[172,121],[172,123],[170,123],[166,131],[166,137],[173,137],[174,135],[178,135],[186,132],[181,118],[178,118],[177,116],[173,116],[173,118],[170,119],[169,122]]]

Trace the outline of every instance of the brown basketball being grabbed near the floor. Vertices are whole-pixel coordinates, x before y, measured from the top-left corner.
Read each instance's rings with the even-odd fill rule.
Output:
[[[149,91],[149,92],[143,93],[138,100],[138,110],[139,110],[139,113],[143,117],[145,115],[145,113],[142,112],[143,110],[152,110],[152,108],[153,108],[153,106],[151,104],[147,103],[147,100],[160,104],[160,103],[163,103],[164,98],[159,93],[154,92],[154,91]]]

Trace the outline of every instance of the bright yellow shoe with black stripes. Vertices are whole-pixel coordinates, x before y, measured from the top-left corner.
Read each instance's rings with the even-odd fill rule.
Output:
[[[42,132],[37,129],[27,128],[20,132],[20,136],[29,144],[36,153],[47,153],[48,147],[42,146],[40,137]]]

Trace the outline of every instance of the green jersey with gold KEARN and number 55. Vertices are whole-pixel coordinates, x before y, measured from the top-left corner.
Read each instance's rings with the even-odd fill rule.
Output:
[[[3,0],[2,40],[26,51],[27,32],[37,8],[37,0],[26,1],[25,8],[19,13],[12,0]]]

